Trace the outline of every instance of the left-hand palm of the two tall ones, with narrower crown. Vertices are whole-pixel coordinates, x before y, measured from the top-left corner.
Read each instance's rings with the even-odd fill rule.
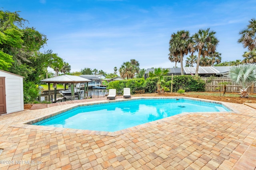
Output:
[[[181,30],[177,33],[172,33],[171,39],[169,41],[169,51],[173,56],[177,56],[180,53],[180,70],[181,75],[184,74],[183,71],[183,55],[188,54],[188,44],[189,44],[189,31]],[[175,55],[174,55],[175,54]]]

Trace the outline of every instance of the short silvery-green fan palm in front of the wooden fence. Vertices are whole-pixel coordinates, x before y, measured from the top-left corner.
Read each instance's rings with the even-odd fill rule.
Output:
[[[229,71],[230,80],[236,84],[241,84],[240,97],[248,98],[248,87],[256,82],[256,65],[241,64],[239,66],[232,66]]]

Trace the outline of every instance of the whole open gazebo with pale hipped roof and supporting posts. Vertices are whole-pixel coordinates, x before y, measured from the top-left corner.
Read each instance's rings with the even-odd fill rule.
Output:
[[[71,96],[74,96],[74,83],[84,83],[86,86],[84,86],[84,91],[88,92],[88,82],[91,80],[82,78],[80,76],[72,76],[72,75],[62,75],[62,76],[56,76],[56,77],[51,77],[47,78],[44,80],[41,80],[41,82],[46,82],[48,83],[48,95],[50,97],[50,83],[53,83],[54,87],[54,99],[56,99],[56,84],[57,83],[65,83],[65,90],[66,90],[66,83],[71,84]],[[71,97],[72,100],[72,97]]]

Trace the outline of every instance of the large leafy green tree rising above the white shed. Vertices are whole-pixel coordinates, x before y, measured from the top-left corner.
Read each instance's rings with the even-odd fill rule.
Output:
[[[47,39],[33,27],[24,27],[25,22],[18,12],[0,10],[0,65],[26,81],[37,81],[43,62],[38,53]]]

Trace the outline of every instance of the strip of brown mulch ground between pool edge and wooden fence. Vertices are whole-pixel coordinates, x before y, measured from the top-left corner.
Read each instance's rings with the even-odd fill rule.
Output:
[[[228,96],[229,94],[236,95],[235,97]],[[201,99],[208,99],[208,100],[217,100],[222,102],[231,102],[231,103],[256,103],[255,97],[249,97],[249,98],[240,98],[240,95],[238,93],[226,93],[226,96],[219,96],[219,92],[198,92],[198,94],[195,94],[195,92],[186,92],[185,94],[178,94],[178,93],[164,93],[164,94],[158,94],[158,93],[151,93],[151,94],[135,94],[133,96],[152,96],[152,97],[160,97],[160,96],[184,96],[184,97],[190,97],[190,98],[201,98]]]

